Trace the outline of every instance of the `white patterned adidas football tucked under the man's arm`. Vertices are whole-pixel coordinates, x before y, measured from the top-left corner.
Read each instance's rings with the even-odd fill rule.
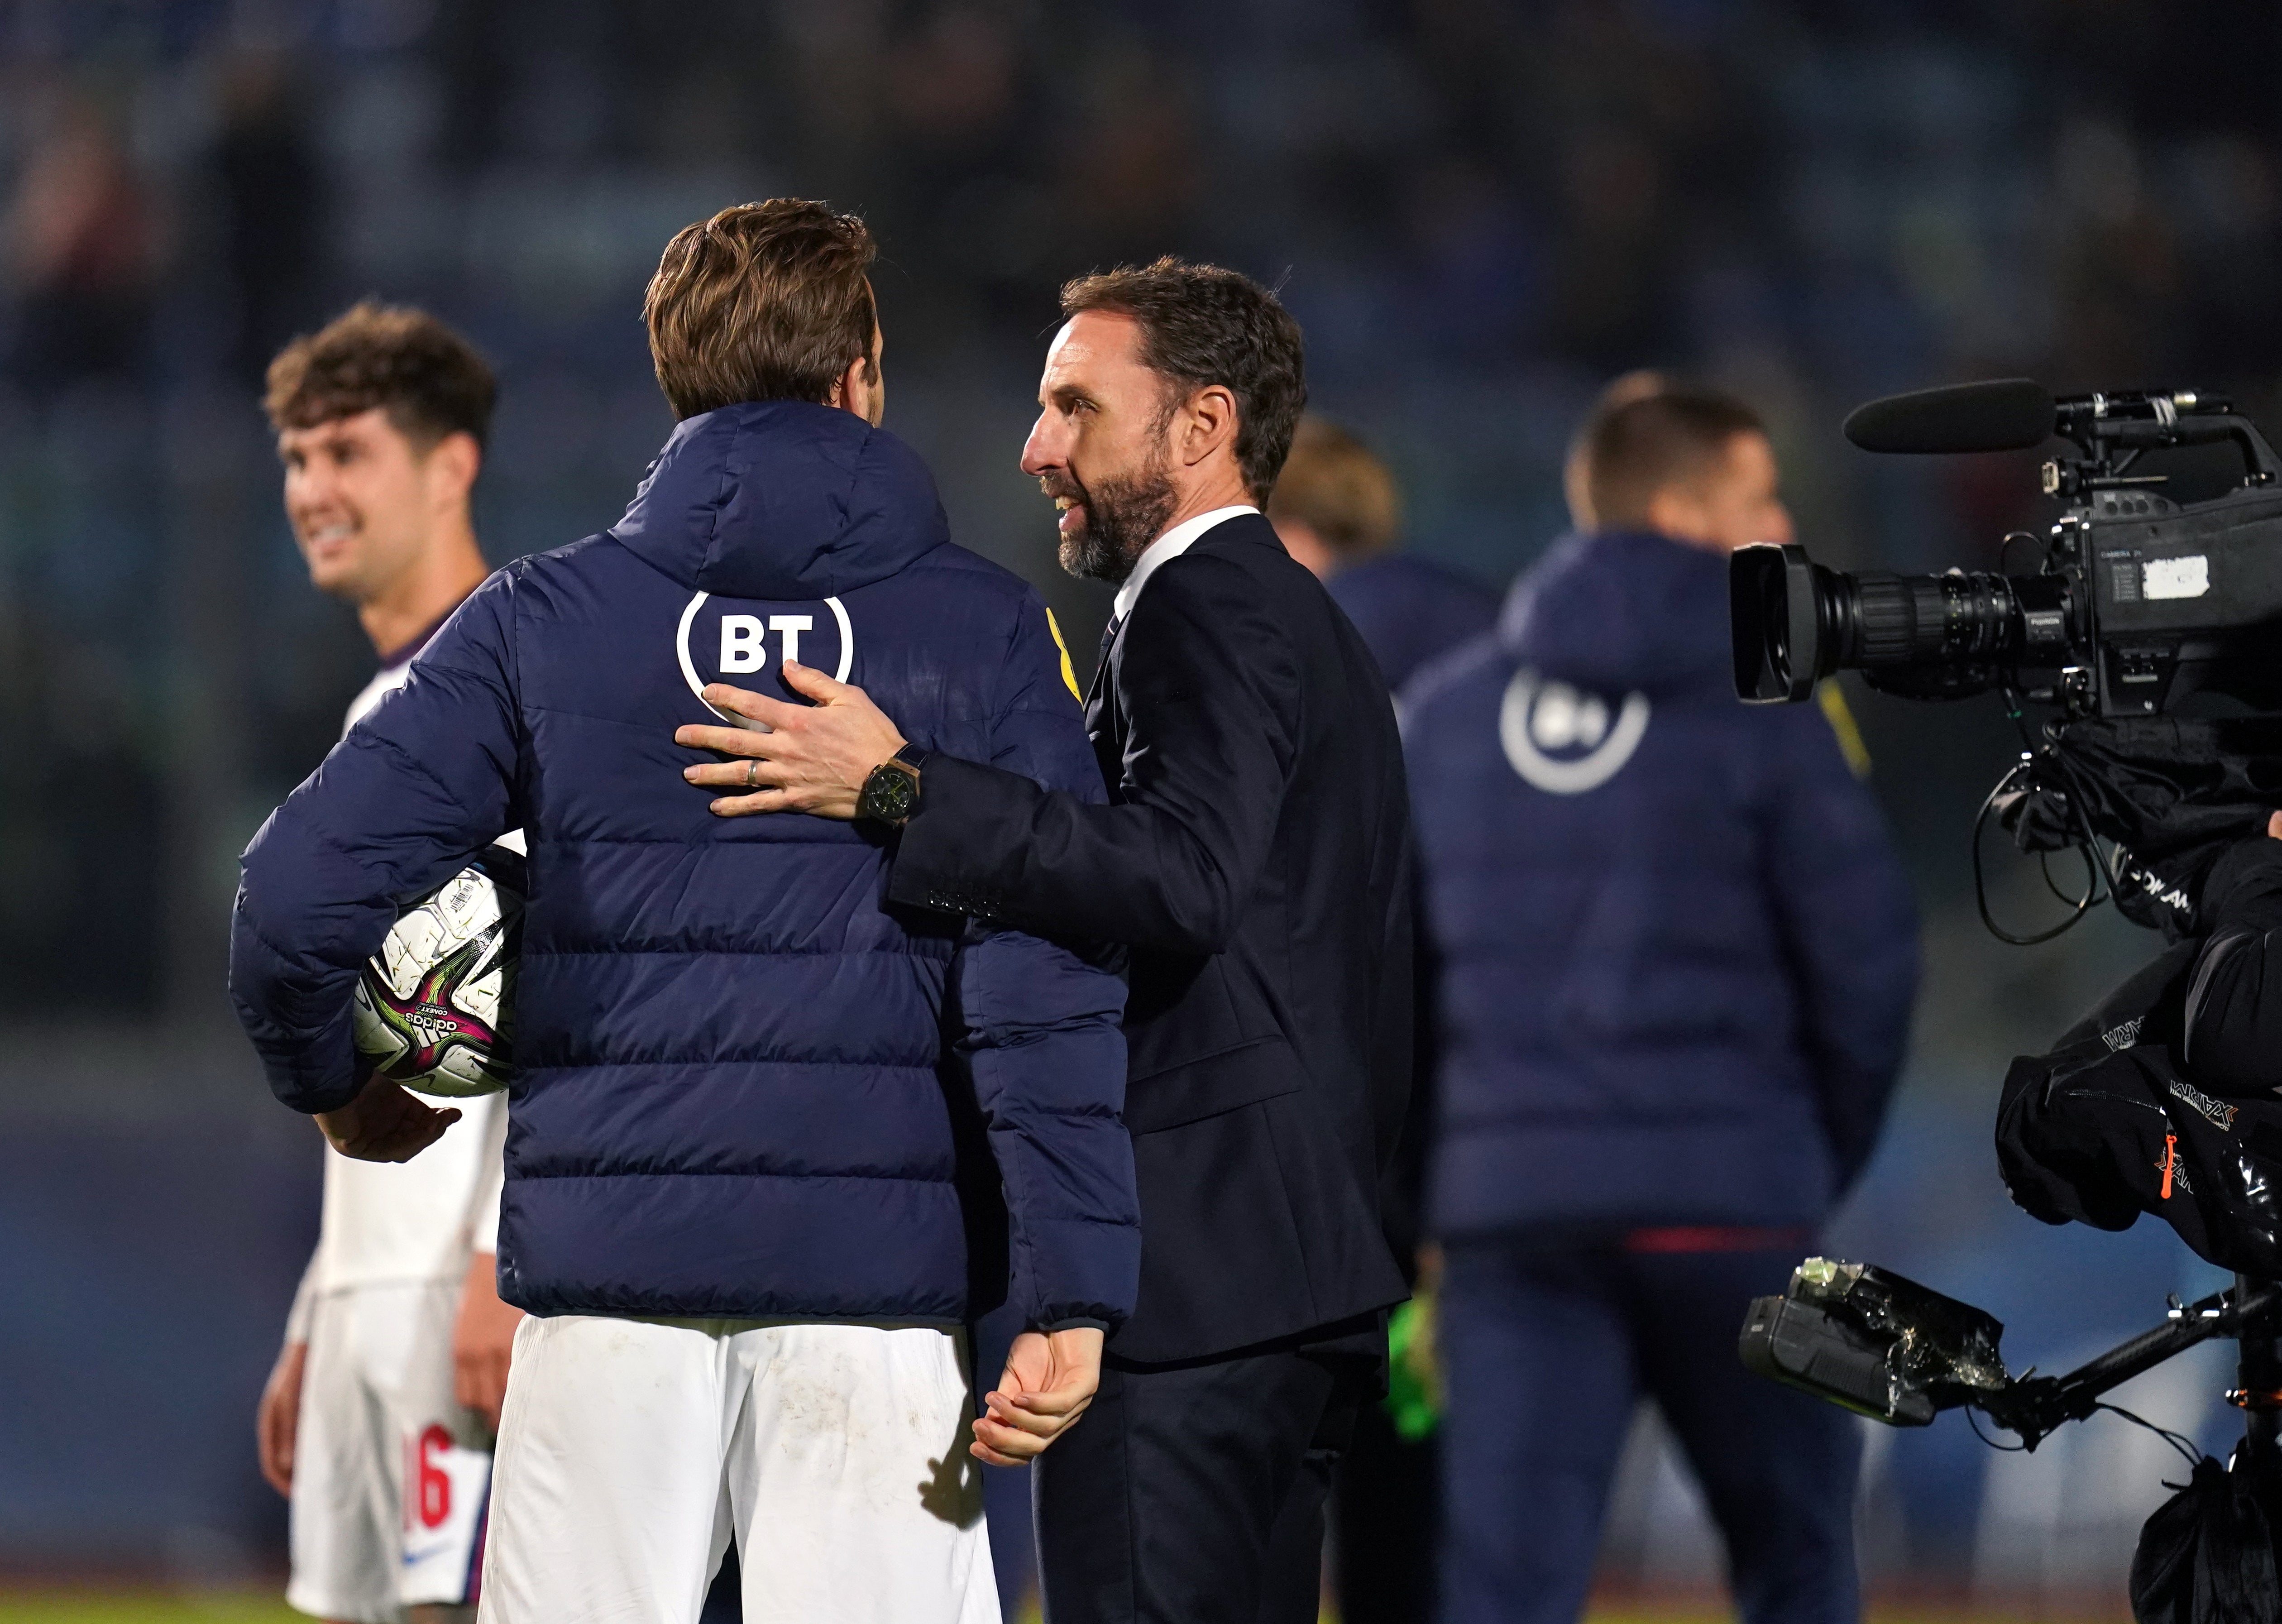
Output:
[[[406,908],[356,981],[356,1047],[422,1095],[507,1088],[523,940],[523,858],[488,846]]]

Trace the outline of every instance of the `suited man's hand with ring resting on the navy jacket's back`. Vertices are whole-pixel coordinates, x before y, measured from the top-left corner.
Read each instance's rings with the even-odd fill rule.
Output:
[[[785,661],[785,682],[815,705],[771,700],[767,693],[733,689],[726,682],[707,687],[707,705],[744,716],[758,730],[675,728],[673,744],[739,757],[689,766],[682,778],[733,791],[712,803],[721,817],[751,812],[856,817],[863,780],[904,748],[904,734],[858,687],[833,682],[792,659]]]

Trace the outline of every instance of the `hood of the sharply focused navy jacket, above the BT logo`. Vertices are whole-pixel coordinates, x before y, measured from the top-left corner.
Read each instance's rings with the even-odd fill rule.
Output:
[[[952,538],[917,452],[808,401],[685,417],[609,534],[682,586],[778,600],[869,586]]]

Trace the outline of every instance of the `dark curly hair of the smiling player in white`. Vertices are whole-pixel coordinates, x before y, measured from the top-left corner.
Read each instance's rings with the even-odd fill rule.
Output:
[[[283,433],[379,406],[427,452],[447,433],[484,445],[497,395],[491,367],[466,338],[427,310],[365,299],[278,351],[262,408]]]

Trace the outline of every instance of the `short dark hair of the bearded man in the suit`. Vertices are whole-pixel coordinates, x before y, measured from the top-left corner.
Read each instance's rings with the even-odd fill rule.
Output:
[[[1079,276],[1061,290],[1063,319],[1086,310],[1141,326],[1141,365],[1178,390],[1219,383],[1237,397],[1237,468],[1267,502],[1308,408],[1308,358],[1298,322],[1267,287],[1219,265],[1164,255]]]

